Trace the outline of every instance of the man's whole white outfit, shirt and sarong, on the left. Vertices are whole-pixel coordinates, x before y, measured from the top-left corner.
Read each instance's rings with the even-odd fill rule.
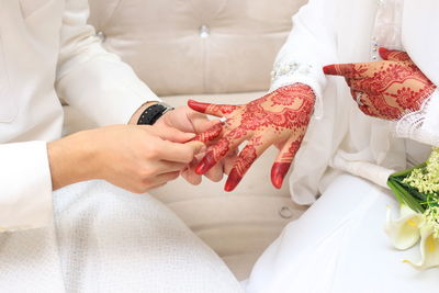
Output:
[[[100,125],[125,124],[158,100],[101,47],[88,13],[87,0],[0,0],[0,291],[241,292],[148,194],[103,181],[52,192],[58,97]]]

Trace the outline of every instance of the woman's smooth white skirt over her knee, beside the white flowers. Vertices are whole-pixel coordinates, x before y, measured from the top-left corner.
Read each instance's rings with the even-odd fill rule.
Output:
[[[356,177],[337,177],[320,199],[256,263],[247,293],[436,292],[438,270],[419,272],[384,233],[393,195]]]

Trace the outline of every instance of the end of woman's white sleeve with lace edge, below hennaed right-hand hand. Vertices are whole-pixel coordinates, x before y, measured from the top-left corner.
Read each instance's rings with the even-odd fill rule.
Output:
[[[404,115],[396,123],[396,135],[439,146],[439,90],[424,102],[419,111]]]

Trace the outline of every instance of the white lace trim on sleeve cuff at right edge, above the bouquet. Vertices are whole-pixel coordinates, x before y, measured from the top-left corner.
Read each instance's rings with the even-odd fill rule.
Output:
[[[423,129],[423,124],[434,97],[436,94],[430,94],[423,102],[418,111],[407,113],[396,122],[397,137],[410,138],[424,144],[439,146],[439,136]]]

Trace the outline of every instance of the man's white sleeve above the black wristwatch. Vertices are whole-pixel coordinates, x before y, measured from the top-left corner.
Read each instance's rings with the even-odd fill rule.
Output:
[[[56,90],[99,125],[125,124],[158,98],[119,56],[106,52],[87,24],[88,0],[66,0]]]

